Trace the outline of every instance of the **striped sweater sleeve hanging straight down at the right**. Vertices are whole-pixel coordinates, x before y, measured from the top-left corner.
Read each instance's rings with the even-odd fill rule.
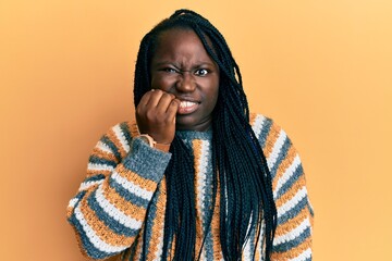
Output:
[[[299,156],[286,133],[270,119],[257,115],[254,122],[278,210],[271,260],[311,260],[314,211]]]

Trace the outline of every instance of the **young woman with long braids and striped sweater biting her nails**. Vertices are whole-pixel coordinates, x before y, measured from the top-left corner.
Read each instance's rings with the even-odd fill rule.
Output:
[[[250,114],[223,36],[179,10],[142,40],[135,121],[98,141],[68,219],[85,254],[122,260],[311,260],[301,160]]]

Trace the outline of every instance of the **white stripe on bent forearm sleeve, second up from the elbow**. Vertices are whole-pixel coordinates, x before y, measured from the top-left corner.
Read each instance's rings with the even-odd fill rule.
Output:
[[[111,217],[120,222],[122,225],[130,227],[132,229],[139,229],[142,227],[142,222],[123,213],[121,210],[115,208],[109,200],[103,196],[102,187],[99,187],[96,191],[96,200],[98,204],[108,213]]]

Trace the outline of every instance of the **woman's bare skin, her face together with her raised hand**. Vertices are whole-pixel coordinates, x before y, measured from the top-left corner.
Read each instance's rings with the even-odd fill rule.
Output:
[[[207,130],[219,91],[219,67],[191,29],[161,33],[151,61],[151,90],[136,108],[142,134],[171,144],[175,129]]]

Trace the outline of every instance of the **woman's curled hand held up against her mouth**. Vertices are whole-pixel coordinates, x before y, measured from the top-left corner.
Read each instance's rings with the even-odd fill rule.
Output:
[[[158,144],[171,144],[175,133],[175,114],[180,101],[174,95],[151,89],[136,108],[136,122],[140,134],[148,134]]]

